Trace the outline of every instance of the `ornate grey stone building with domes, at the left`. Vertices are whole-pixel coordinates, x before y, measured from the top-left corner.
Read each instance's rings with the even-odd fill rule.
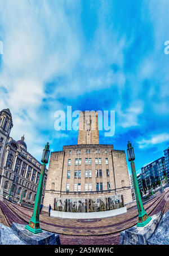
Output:
[[[0,112],[0,189],[1,196],[27,205],[33,205],[41,163],[27,151],[24,136],[17,142],[10,137],[12,116],[9,109]],[[42,201],[45,194],[47,170],[43,183]]]

